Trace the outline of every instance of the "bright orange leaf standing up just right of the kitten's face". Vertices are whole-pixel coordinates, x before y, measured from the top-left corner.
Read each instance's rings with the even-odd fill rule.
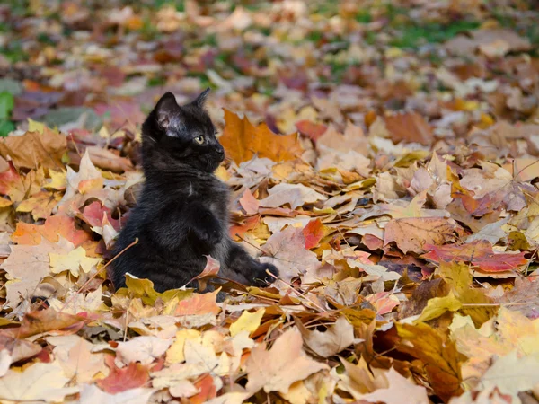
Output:
[[[251,160],[254,154],[274,162],[293,160],[303,151],[296,135],[275,135],[265,123],[254,127],[247,117],[240,119],[226,109],[225,130],[219,142],[237,163]]]

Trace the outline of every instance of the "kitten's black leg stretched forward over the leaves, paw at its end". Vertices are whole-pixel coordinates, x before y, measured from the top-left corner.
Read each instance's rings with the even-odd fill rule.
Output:
[[[278,277],[278,269],[269,263],[261,263],[253,259],[243,247],[235,242],[229,241],[228,254],[225,259],[225,266],[230,268],[241,277],[247,279],[248,285],[266,286],[271,284],[275,278],[271,277],[266,270]]]

